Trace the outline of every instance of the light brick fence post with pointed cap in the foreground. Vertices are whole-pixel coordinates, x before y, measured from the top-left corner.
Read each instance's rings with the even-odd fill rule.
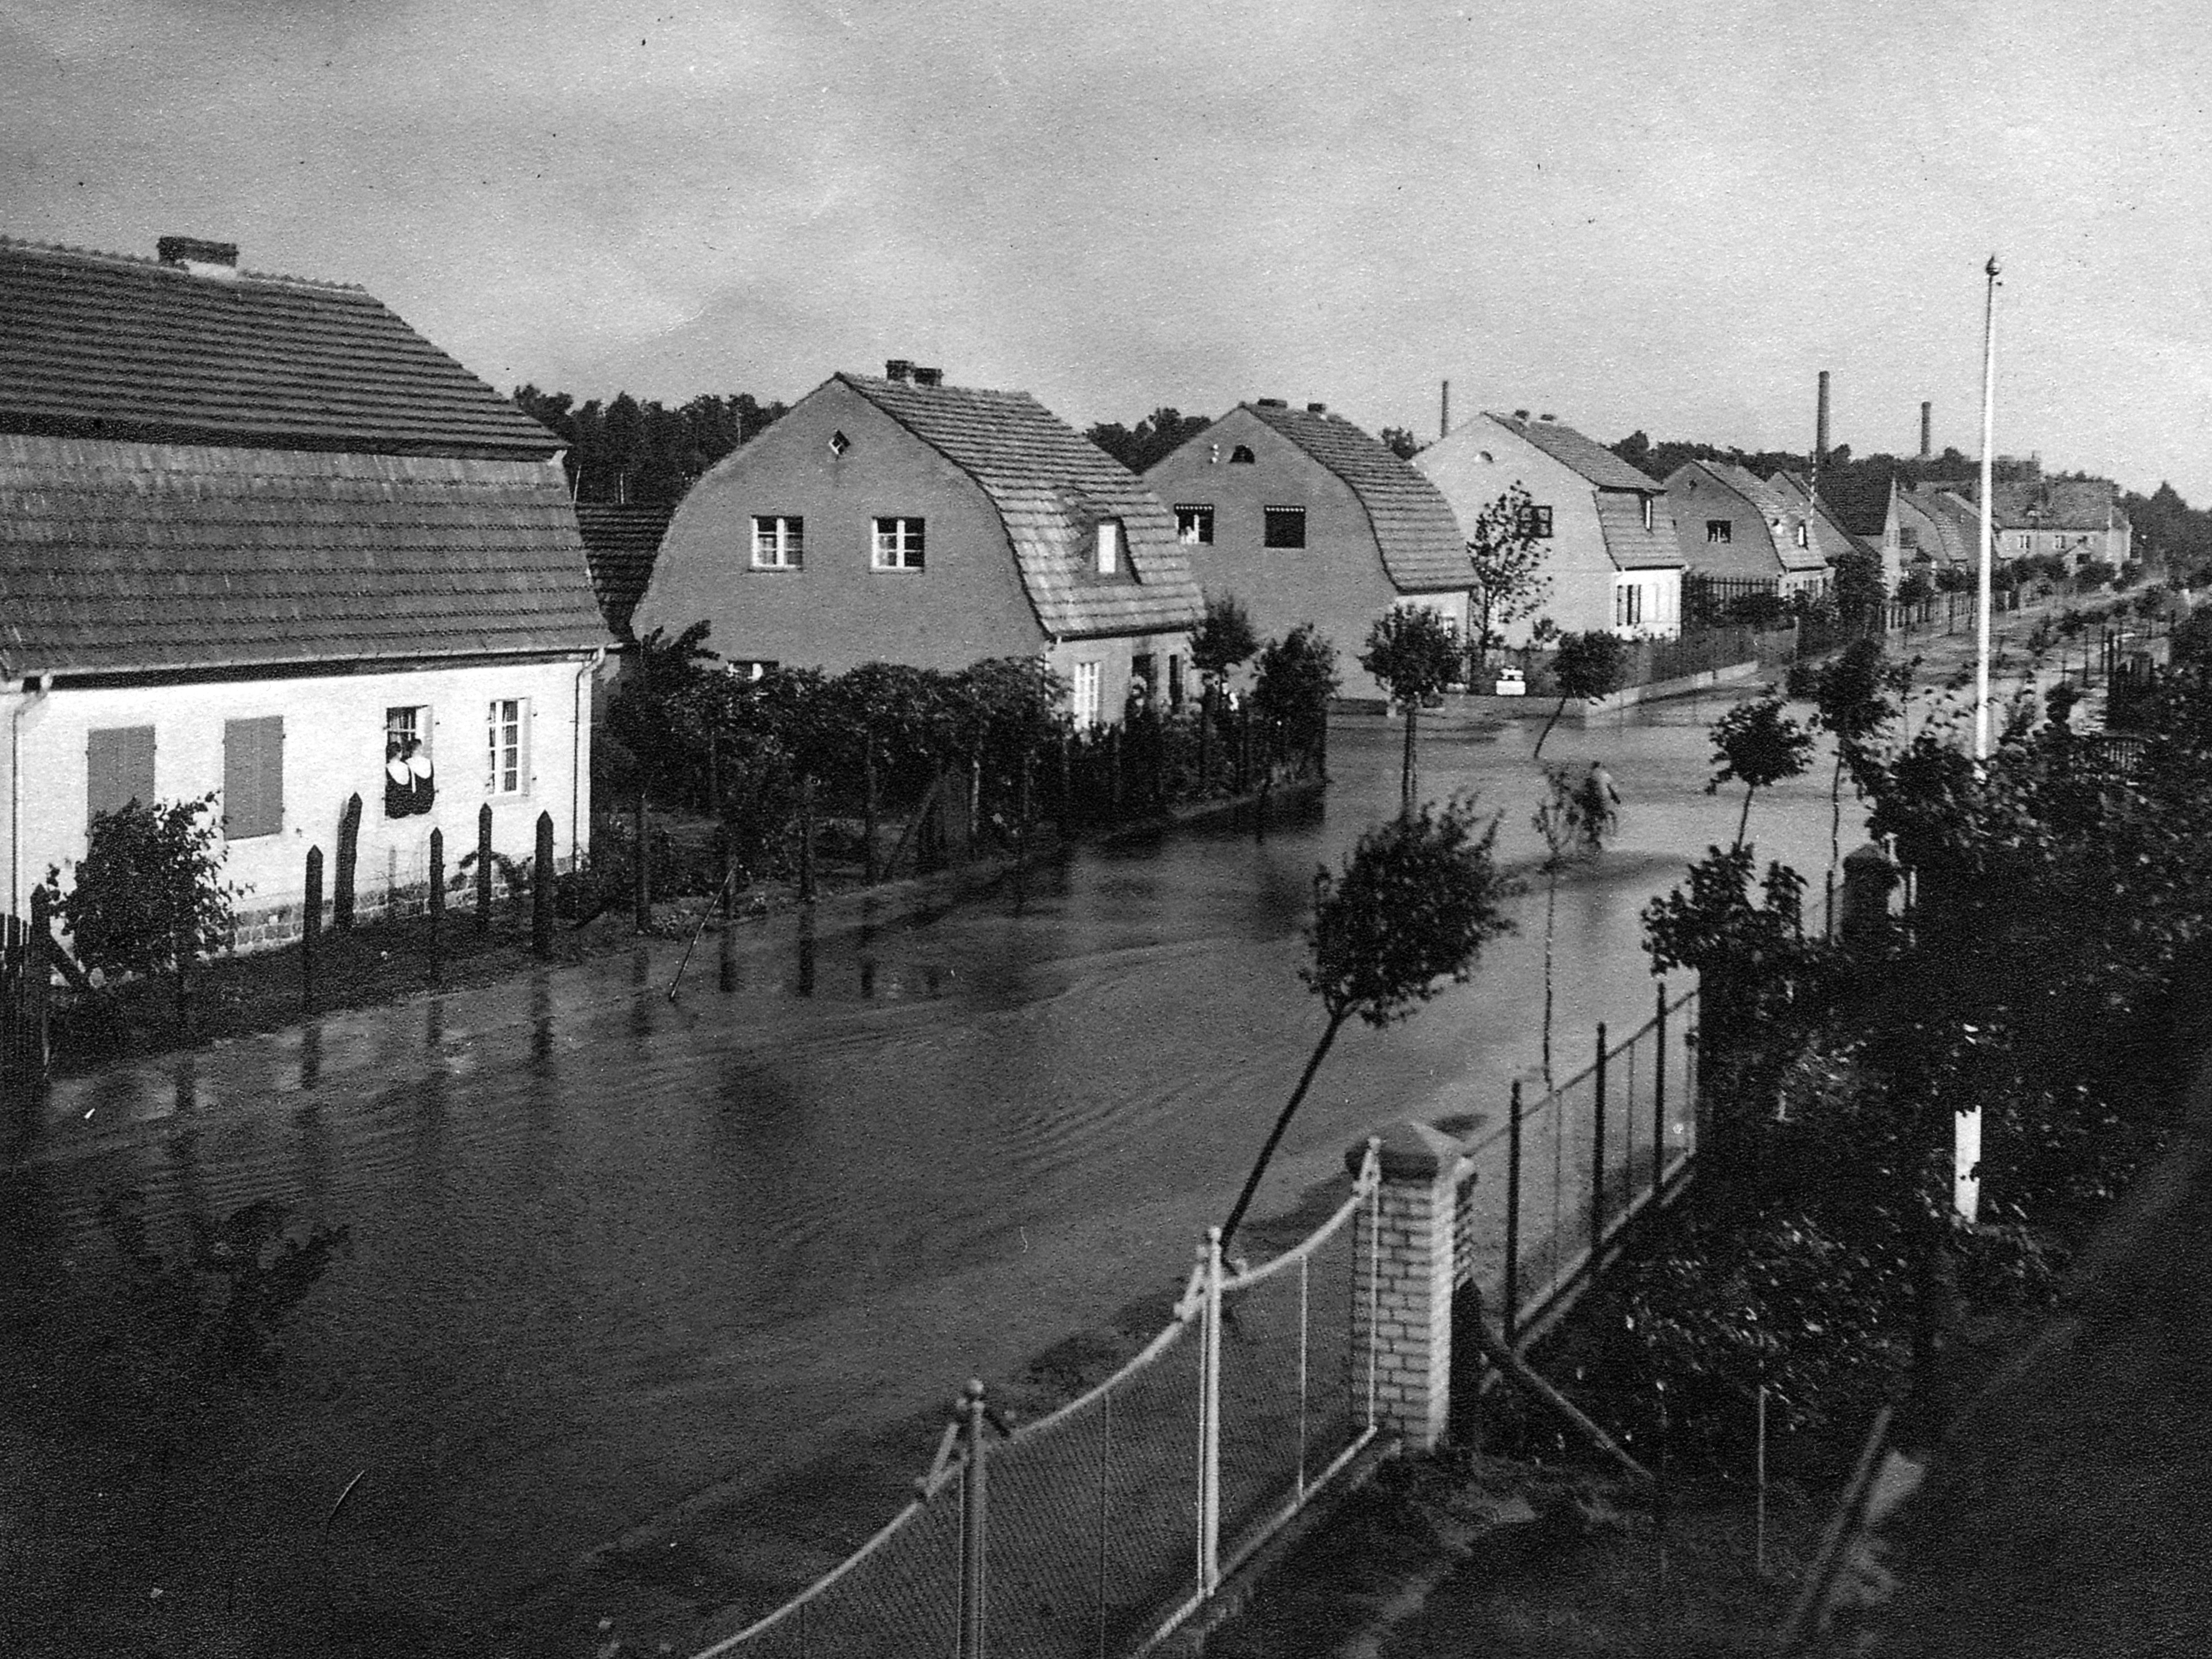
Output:
[[[1436,1451],[1451,1418],[1451,1228],[1464,1157],[1451,1135],[1411,1119],[1391,1124],[1378,1141],[1383,1194],[1374,1212],[1358,1212],[1354,1234],[1354,1354],[1365,1358],[1371,1329],[1376,1427],[1402,1436],[1407,1451]],[[1356,1175],[1365,1157],[1360,1141],[1345,1164]],[[1352,1398],[1363,1400],[1365,1387],[1356,1376]]]

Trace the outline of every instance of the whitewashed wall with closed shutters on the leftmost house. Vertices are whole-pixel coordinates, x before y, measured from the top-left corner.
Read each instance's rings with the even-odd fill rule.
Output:
[[[283,717],[283,816],[274,834],[230,841],[228,880],[250,887],[237,900],[239,947],[272,945],[299,931],[307,847],[323,849],[325,900],[336,885],[338,818],[361,794],[356,905],[385,907],[389,889],[420,902],[429,878],[429,832],[445,832],[451,880],[476,849],[476,814],[491,803],[493,847],[529,858],[538,814],[553,814],[553,854],[575,858],[591,836],[591,659],[498,666],[239,679],[190,686],[58,688],[0,697],[0,827],[7,843],[11,909],[24,914],[49,865],[71,883],[86,845],[86,743],[93,730],[155,728],[155,794],[188,801],[223,790],[223,723]],[[524,787],[491,794],[489,706],[529,699]],[[429,812],[385,816],[385,710],[429,708],[436,801]],[[582,719],[577,714],[582,712]],[[20,787],[18,787],[20,774]],[[217,814],[221,803],[217,801]]]

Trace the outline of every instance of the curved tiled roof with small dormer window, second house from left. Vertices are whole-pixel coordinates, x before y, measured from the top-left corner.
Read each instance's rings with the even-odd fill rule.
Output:
[[[1190,555],[1159,498],[1026,392],[836,378],[982,487],[1048,635],[1190,628],[1206,613]],[[1108,518],[1121,520],[1135,582],[1097,575],[1095,533]]]

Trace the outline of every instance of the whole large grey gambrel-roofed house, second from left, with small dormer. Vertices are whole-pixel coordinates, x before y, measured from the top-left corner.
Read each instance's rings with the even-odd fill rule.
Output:
[[[1175,520],[1026,392],[894,358],[836,374],[717,462],[661,538],[630,617],[710,626],[741,668],[964,668],[1042,657],[1075,717],[1186,684],[1203,602]]]

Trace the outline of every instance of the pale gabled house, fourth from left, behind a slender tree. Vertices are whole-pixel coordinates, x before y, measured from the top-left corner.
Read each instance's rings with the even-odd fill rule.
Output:
[[[1528,531],[1540,538],[1551,580],[1540,615],[1564,633],[1681,633],[1683,557],[1666,484],[1595,438],[1548,416],[1482,414],[1422,449],[1413,465],[1469,529],[1513,484],[1528,491]],[[1469,617],[1478,624],[1480,606]],[[1502,628],[1504,644],[1528,644],[1535,619]]]

